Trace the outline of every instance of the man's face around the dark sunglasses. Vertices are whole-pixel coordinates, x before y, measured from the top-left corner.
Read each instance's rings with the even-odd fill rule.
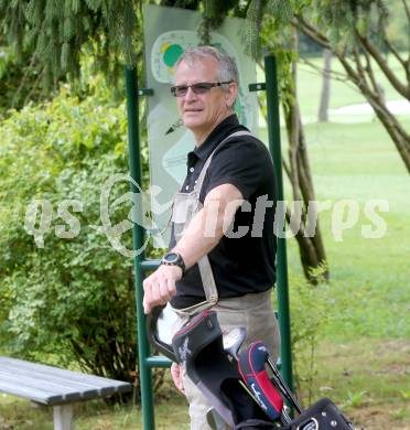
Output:
[[[175,85],[218,82],[218,63],[209,57],[196,61],[193,65],[184,61],[177,66]],[[185,96],[176,97],[181,119],[186,128],[194,132],[198,143],[227,116],[237,94],[235,83],[224,87],[213,87],[205,94],[195,94],[188,88]]]

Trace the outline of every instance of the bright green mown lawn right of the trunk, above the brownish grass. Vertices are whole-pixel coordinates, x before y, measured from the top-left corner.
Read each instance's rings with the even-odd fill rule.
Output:
[[[410,122],[409,122],[410,126]],[[335,298],[326,334],[410,338],[410,178],[385,130],[377,123],[306,126],[316,198],[330,201],[321,216]],[[336,207],[349,201],[357,222],[342,229]],[[386,233],[363,236],[364,226],[375,228],[365,213],[371,201],[385,202],[377,212]],[[343,203],[343,202],[342,202]],[[344,219],[347,217],[346,206]],[[295,244],[289,243],[290,267],[298,272]]]

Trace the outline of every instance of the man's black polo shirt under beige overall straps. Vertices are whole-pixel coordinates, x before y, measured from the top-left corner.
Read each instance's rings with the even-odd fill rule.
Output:
[[[193,191],[199,172],[215,148],[229,135],[247,130],[236,115],[222,121],[207,139],[187,154],[187,174],[181,192]],[[262,292],[276,281],[277,239],[273,235],[276,181],[266,146],[251,136],[229,139],[218,148],[205,175],[199,200],[222,184],[235,185],[247,201],[238,208],[233,228],[208,254],[219,298]],[[270,202],[270,203],[269,203]],[[240,236],[235,237],[235,236]],[[170,249],[175,246],[172,234]],[[205,300],[198,266],[176,283],[171,304],[176,309]]]

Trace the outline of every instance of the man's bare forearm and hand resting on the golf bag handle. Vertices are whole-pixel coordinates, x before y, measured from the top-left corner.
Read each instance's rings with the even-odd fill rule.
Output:
[[[241,192],[231,184],[222,184],[209,191],[204,207],[194,216],[172,251],[181,254],[185,268],[194,266],[208,254],[231,224],[237,208],[244,202]],[[143,309],[165,304],[176,292],[175,282],[182,278],[177,266],[161,265],[143,281]]]

